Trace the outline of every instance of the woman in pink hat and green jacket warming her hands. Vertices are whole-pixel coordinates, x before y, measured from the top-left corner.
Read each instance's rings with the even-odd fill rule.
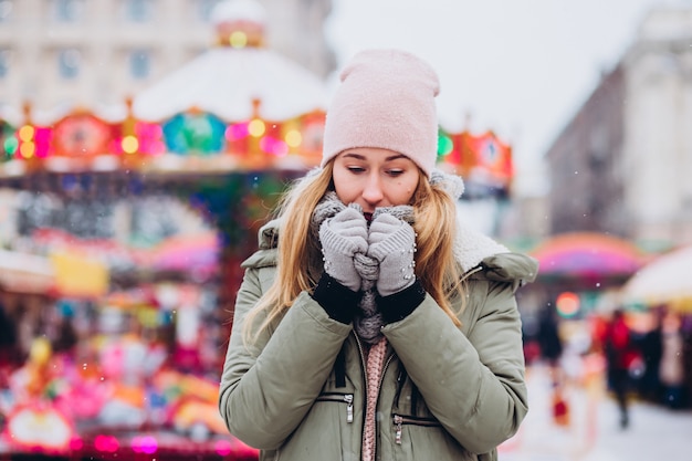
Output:
[[[243,263],[221,415],[262,460],[495,459],[527,411],[536,263],[458,229],[427,63],[369,50],[340,78],[321,168]]]

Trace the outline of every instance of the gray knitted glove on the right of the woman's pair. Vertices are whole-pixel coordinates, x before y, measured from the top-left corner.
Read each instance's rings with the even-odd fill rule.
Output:
[[[413,253],[416,232],[405,221],[382,213],[370,223],[368,256],[379,261],[377,291],[389,296],[407,289],[416,281]]]

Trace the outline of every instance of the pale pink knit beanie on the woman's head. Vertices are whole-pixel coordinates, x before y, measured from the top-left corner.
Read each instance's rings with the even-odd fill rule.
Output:
[[[400,50],[367,50],[342,71],[327,111],[322,166],[346,149],[403,154],[430,177],[438,154],[434,70]]]

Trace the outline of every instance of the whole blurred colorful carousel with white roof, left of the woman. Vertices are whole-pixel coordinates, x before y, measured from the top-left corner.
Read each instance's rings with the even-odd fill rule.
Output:
[[[259,3],[212,19],[214,46],[122,105],[0,112],[0,453],[256,457],[216,409],[222,345],[327,92],[264,48]]]

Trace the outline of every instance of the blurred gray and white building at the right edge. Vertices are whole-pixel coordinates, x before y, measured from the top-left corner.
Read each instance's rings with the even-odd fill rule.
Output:
[[[654,9],[547,151],[549,233],[692,242],[692,9]]]

